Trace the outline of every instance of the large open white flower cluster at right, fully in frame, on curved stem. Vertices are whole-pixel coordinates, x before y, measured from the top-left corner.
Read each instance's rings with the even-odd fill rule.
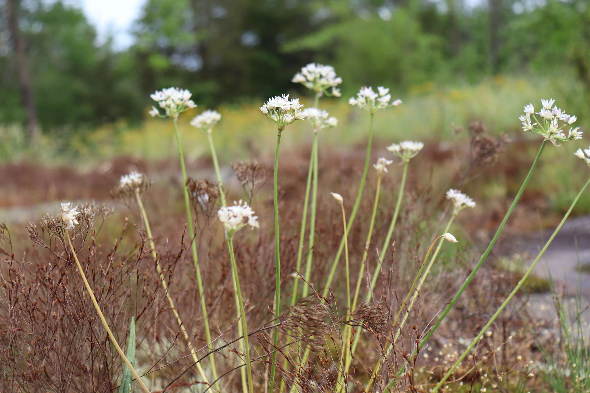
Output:
[[[553,106],[553,103],[555,103],[553,99],[541,100],[543,108],[539,112],[535,112],[533,104],[526,105],[525,114],[519,117],[522,122],[522,129],[542,135],[545,140],[551,141],[555,146],[559,146],[557,141],[582,139],[582,131],[579,131],[579,127],[570,127],[566,136],[563,132],[565,131],[564,128],[571,126],[577,119],[575,116],[566,114],[557,106]],[[553,108],[551,108],[552,106]],[[536,115],[539,115],[541,120],[538,120]]]

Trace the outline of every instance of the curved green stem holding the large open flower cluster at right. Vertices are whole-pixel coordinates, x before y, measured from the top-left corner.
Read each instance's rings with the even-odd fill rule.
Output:
[[[434,332],[437,330],[438,326],[440,326],[442,321],[444,321],[444,318],[447,316],[447,314],[451,311],[451,309],[453,309],[453,307],[455,306],[455,303],[457,303],[457,300],[463,294],[463,292],[465,291],[465,289],[467,288],[467,286],[469,285],[471,280],[473,280],[474,276],[477,273],[477,270],[479,270],[481,265],[483,265],[483,262],[486,260],[492,247],[496,244],[498,237],[500,237],[500,233],[504,229],[504,225],[506,225],[506,222],[508,221],[510,214],[512,214],[514,207],[516,206],[516,204],[518,203],[518,201],[520,199],[520,196],[522,196],[522,193],[523,193],[523,191],[525,191],[527,184],[529,184],[529,180],[533,176],[533,172],[535,171],[535,168],[537,167],[537,163],[539,163],[539,158],[541,157],[541,154],[543,153],[543,149],[545,148],[546,143],[547,143],[547,141],[543,141],[543,143],[541,144],[541,147],[539,148],[539,152],[537,153],[537,156],[535,157],[535,161],[533,161],[533,164],[530,167],[529,173],[526,175],[525,181],[522,183],[522,186],[520,186],[520,190],[516,194],[516,197],[514,197],[514,201],[510,205],[508,212],[506,212],[506,216],[504,216],[504,219],[500,223],[500,226],[498,227],[498,230],[496,231],[496,235],[494,235],[494,237],[491,239],[490,245],[487,246],[486,251],[484,251],[484,253],[481,255],[479,262],[477,262],[477,265],[473,268],[473,271],[470,273],[470,275],[467,276],[467,279],[463,283],[463,286],[461,286],[461,288],[455,294],[453,300],[451,300],[451,302],[448,304],[448,306],[444,309],[444,311],[442,312],[437,323],[435,323],[434,326],[432,326],[430,331],[428,331],[428,333],[426,333],[424,338],[422,338],[422,340],[418,343],[418,348],[421,348],[422,345],[424,345],[424,343],[427,342],[428,339],[432,336],[432,334],[434,334]],[[412,356],[415,356],[417,354],[418,348],[414,351],[414,354],[412,354]],[[405,365],[402,365],[396,375],[401,375],[401,373],[404,371],[404,368],[405,368]],[[396,381],[396,378],[392,379],[391,382],[389,382],[387,388],[385,389],[385,391],[383,393],[391,392],[391,388],[394,387],[395,381]]]

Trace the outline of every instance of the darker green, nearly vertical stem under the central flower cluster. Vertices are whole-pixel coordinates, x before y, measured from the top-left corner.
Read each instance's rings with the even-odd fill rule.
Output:
[[[274,294],[274,316],[275,323],[278,323],[278,313],[281,311],[281,253],[280,253],[280,235],[278,233],[278,149],[281,145],[281,133],[283,128],[278,128],[277,134],[277,150],[274,153],[274,181],[273,181],[273,195],[274,195],[274,259],[275,259],[275,279],[276,292]],[[278,347],[278,326],[274,328],[273,335],[274,348]],[[268,391],[274,391],[274,374],[276,373],[277,352],[273,352],[270,361],[270,384]]]

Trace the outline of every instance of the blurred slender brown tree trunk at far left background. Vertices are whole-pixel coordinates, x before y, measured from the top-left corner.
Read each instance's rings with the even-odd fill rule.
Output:
[[[8,29],[10,31],[12,46],[14,47],[14,54],[18,68],[18,81],[21,90],[21,101],[22,105],[24,105],[25,109],[27,110],[27,132],[29,142],[31,142],[37,138],[40,129],[37,120],[37,108],[35,108],[31,78],[27,66],[25,43],[22,40],[18,27],[19,0],[7,0],[6,8],[8,14]]]

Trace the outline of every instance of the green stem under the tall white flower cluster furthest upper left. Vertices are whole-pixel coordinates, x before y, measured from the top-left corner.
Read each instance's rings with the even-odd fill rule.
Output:
[[[195,275],[196,275],[196,285],[199,289],[199,297],[201,298],[201,311],[203,313],[203,326],[205,328],[205,339],[207,339],[207,348],[209,351],[213,350],[213,344],[211,340],[211,331],[209,330],[209,319],[207,318],[207,303],[205,302],[205,292],[203,289],[203,281],[201,279],[201,268],[199,267],[199,257],[196,253],[196,243],[195,239],[195,228],[192,224],[192,214],[191,214],[191,201],[189,200],[188,196],[188,189],[186,188],[186,167],[184,162],[184,154],[182,154],[182,144],[181,144],[181,137],[178,133],[178,125],[176,124],[176,118],[172,118],[172,123],[174,124],[174,134],[176,136],[176,144],[178,146],[178,156],[181,161],[181,170],[182,170],[182,190],[184,191],[185,196],[185,210],[186,210],[186,219],[188,220],[188,230],[189,235],[191,235],[191,251],[192,251],[192,262],[195,265]],[[217,379],[217,369],[215,368],[215,359],[213,356],[209,359],[211,362],[211,372],[213,374],[213,379]],[[215,389],[219,390],[219,385],[215,384]]]

